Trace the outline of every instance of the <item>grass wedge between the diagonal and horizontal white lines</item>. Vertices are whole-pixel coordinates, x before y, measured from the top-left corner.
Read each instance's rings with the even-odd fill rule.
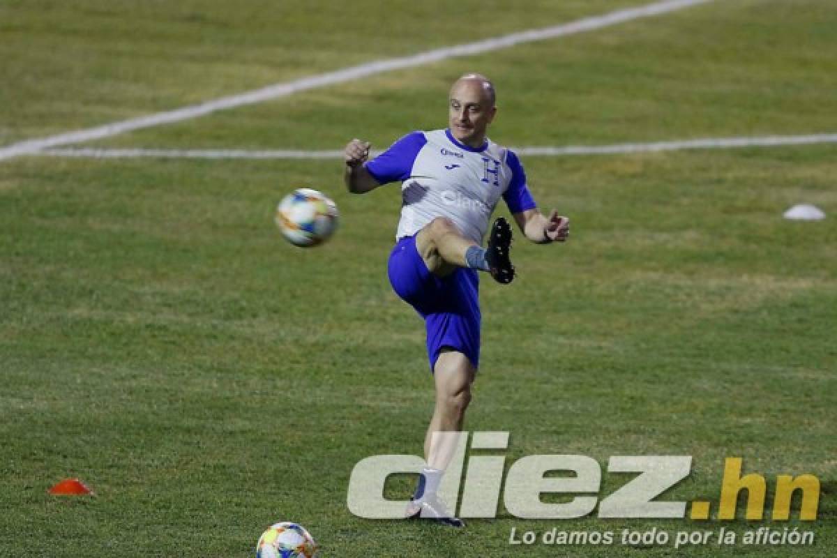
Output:
[[[827,3],[716,3],[93,145],[337,149],[365,134],[384,147],[405,131],[444,125],[450,83],[474,70],[496,80],[500,111],[491,134],[508,145],[830,132],[837,130],[834,28],[837,10]]]

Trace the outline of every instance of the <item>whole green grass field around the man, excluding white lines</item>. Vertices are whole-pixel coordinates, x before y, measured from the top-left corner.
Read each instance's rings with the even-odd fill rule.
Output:
[[[396,2],[383,24],[367,0],[6,2],[0,146],[637,3]],[[90,145],[383,148],[444,126],[449,84],[470,70],[495,79],[490,135],[511,146],[834,133],[834,28],[826,1],[707,3]],[[511,432],[507,467],[691,455],[664,499],[713,506],[726,457],[768,485],[814,474],[818,520],[526,521],[502,506],[455,532],[358,519],[353,466],[420,453],[433,404],[423,325],[386,277],[398,187],[351,196],[337,160],[35,155],[0,161],[0,555],[247,556],[276,520],[306,525],[324,556],[834,555],[837,146],[522,162],[573,236],[518,242],[516,282],[483,280],[466,426]],[[341,209],[322,248],[272,224],[299,186]],[[784,221],[798,202],[829,218]],[[96,496],[46,494],[74,476]],[[603,479],[605,495],[629,477]],[[512,528],[721,526],[816,541],[507,544]]]

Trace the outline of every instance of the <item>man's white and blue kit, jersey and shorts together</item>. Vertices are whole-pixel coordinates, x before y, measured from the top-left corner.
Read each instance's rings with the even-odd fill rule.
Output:
[[[444,277],[431,273],[415,235],[434,218],[445,217],[481,244],[501,197],[512,213],[535,207],[520,161],[491,141],[475,149],[456,141],[448,130],[435,130],[403,136],[365,166],[381,184],[401,182],[401,220],[388,276],[398,296],[424,318],[430,370],[445,348],[460,351],[479,367],[477,272],[458,267]]]

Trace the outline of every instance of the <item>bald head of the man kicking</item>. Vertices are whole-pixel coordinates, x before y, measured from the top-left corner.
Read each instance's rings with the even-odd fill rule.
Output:
[[[465,74],[450,88],[450,133],[466,146],[480,147],[497,112],[494,84],[482,74]]]

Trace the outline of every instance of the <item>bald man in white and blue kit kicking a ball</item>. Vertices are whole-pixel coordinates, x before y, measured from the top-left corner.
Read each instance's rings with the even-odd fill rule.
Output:
[[[408,517],[463,526],[436,496],[462,430],[471,384],[480,364],[478,271],[511,283],[511,227],[497,218],[482,247],[491,213],[502,197],[521,232],[534,243],[563,242],[569,221],[538,211],[514,151],[486,137],[497,112],[494,85],[465,74],[450,89],[446,130],[413,131],[372,161],[370,144],[354,139],[345,150],[350,192],[401,182],[401,220],[389,256],[393,289],[424,318],[436,402],[424,439],[427,467]]]

